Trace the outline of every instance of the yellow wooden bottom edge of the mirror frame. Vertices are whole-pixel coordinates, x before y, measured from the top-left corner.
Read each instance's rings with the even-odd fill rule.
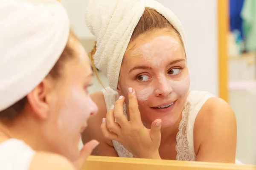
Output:
[[[255,170],[255,165],[90,156],[81,170]]]

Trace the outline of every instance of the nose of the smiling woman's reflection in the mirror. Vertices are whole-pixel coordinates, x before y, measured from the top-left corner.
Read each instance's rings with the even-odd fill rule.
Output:
[[[168,85],[168,79],[166,77],[159,77],[155,87],[155,96],[168,96],[173,91],[172,87]]]

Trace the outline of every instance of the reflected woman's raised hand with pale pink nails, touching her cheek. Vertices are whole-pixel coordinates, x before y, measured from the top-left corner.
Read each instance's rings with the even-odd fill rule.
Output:
[[[147,129],[140,117],[134,89],[129,88],[130,121],[123,113],[125,98],[120,96],[115,106],[103,118],[101,130],[105,138],[120,142],[135,158],[161,159],[158,148],[161,141],[161,119],[156,119]],[[115,122],[116,120],[116,122]]]

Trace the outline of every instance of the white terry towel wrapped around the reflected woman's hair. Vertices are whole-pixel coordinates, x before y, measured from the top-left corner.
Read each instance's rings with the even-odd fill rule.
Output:
[[[117,88],[123,56],[145,7],[162,14],[185,43],[185,33],[178,18],[155,0],[90,0],[87,6],[87,26],[97,41],[94,62],[113,90]]]

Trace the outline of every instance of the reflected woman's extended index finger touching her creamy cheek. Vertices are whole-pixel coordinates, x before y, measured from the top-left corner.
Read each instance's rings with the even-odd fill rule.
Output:
[[[133,88],[128,88],[129,94],[129,114],[131,123],[142,124],[137,96]]]

